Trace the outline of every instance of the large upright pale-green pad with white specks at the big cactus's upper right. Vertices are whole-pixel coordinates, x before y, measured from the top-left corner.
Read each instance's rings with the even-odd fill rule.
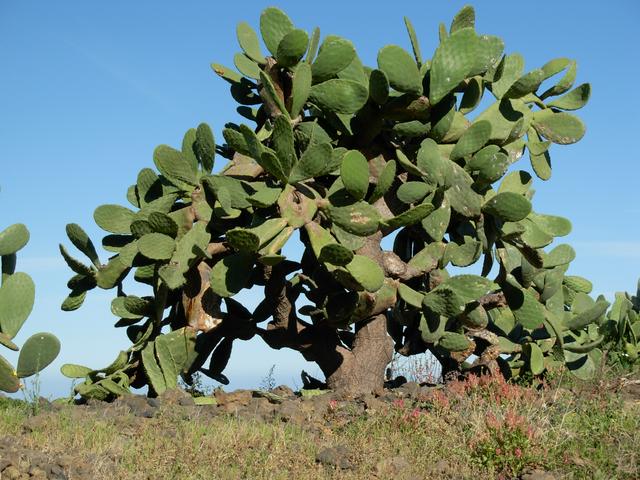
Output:
[[[477,36],[471,28],[458,30],[441,41],[431,62],[429,100],[432,105],[467,78],[475,65],[477,45]]]

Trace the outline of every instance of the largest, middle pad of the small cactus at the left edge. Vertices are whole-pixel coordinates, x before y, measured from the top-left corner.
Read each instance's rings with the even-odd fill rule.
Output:
[[[26,273],[5,279],[0,287],[0,330],[9,339],[15,337],[26,321],[35,300],[35,285]]]

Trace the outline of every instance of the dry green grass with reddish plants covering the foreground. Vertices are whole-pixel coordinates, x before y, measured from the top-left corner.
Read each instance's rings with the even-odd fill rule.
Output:
[[[52,455],[72,452],[97,479],[516,478],[535,468],[556,478],[640,478],[640,399],[605,380],[536,390],[472,378],[417,407],[398,401],[355,413],[338,404],[302,426],[185,421],[179,410],[142,419],[71,407],[34,417],[29,405],[0,399],[0,436]],[[320,449],[337,444],[349,448],[352,469],[316,463]],[[395,471],[384,461],[391,457],[409,466]]]

